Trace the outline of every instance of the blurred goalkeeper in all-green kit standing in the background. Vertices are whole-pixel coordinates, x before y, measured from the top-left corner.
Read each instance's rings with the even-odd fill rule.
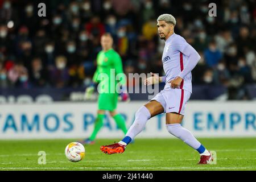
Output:
[[[83,144],[93,144],[98,131],[104,125],[105,111],[109,111],[115,123],[124,134],[127,133],[125,120],[121,114],[115,110],[117,108],[118,97],[122,101],[129,100],[129,94],[126,89],[126,77],[123,74],[122,60],[117,52],[112,48],[113,38],[109,33],[101,36],[102,51],[97,55],[97,69],[93,75],[92,84],[86,89],[85,97],[88,99],[92,96],[96,84],[101,84],[98,96],[98,111],[94,125],[93,133],[89,138],[80,141]],[[119,75],[119,79],[115,79]],[[119,82],[118,82],[119,81]],[[117,85],[118,84],[118,85]],[[116,90],[115,88],[118,88]]]

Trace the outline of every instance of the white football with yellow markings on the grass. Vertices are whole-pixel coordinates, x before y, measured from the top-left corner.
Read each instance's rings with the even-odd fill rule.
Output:
[[[65,155],[71,162],[79,162],[85,156],[85,148],[79,142],[71,142],[65,148]]]

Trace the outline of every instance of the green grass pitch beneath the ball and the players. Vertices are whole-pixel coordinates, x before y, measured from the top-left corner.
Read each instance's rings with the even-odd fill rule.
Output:
[[[135,139],[123,154],[107,155],[101,145],[119,139],[98,139],[85,146],[85,158],[69,162],[65,147],[76,139],[0,140],[0,170],[256,170],[256,138],[199,138],[216,151],[217,164],[197,165],[199,154],[179,139]],[[46,164],[38,164],[39,151],[46,152]]]

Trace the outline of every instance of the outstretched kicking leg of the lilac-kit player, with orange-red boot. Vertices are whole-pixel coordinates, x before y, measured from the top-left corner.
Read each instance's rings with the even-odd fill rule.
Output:
[[[108,146],[101,146],[101,151],[105,152],[106,154],[116,154],[125,151],[127,144],[129,144],[131,140],[133,140],[134,137],[141,133],[141,131],[144,129],[148,119],[164,112],[162,105],[163,104],[160,104],[160,102],[152,100],[139,108],[135,114],[134,123],[127,131],[125,138],[123,138],[119,143],[110,144]]]

